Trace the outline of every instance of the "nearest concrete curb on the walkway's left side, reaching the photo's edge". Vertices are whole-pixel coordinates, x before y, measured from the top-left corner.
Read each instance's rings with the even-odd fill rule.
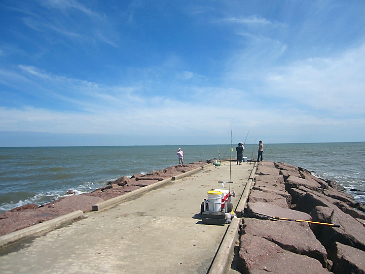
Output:
[[[14,243],[16,241],[19,241],[20,239],[24,239],[30,236],[35,236],[40,233],[45,233],[48,231],[51,231],[53,229],[56,229],[57,227],[69,223],[77,218],[80,218],[84,215],[84,212],[82,210],[74,211],[71,213],[68,213],[66,215],[57,217],[52,220],[48,220],[43,223],[39,223],[36,225],[32,225],[23,229],[20,229],[18,231],[14,231],[12,233],[0,236],[0,248],[9,245],[11,243]]]

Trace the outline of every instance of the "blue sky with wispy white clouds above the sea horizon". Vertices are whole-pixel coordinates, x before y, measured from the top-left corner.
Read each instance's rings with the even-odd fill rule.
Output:
[[[0,0],[0,147],[364,142],[364,14],[362,0]]]

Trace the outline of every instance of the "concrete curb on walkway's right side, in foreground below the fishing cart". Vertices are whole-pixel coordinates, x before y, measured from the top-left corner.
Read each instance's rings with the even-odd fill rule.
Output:
[[[214,258],[209,273],[224,274],[227,272],[229,260],[231,258],[231,254],[236,243],[236,236],[238,235],[239,224],[239,218],[232,219],[228,231],[223,239],[222,245]]]

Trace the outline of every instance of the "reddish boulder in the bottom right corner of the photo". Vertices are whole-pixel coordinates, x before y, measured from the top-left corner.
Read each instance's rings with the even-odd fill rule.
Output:
[[[332,271],[335,274],[365,274],[364,251],[336,242],[328,255],[334,262]]]

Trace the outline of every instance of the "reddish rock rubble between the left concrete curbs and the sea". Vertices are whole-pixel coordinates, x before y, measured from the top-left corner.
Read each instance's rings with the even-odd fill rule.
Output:
[[[148,174],[135,174],[132,177],[123,176],[110,181],[104,187],[89,193],[70,195],[47,204],[25,204],[22,207],[0,214],[0,236],[20,229],[43,223],[48,220],[81,210],[84,213],[92,211],[95,204],[121,196],[133,190],[152,185],[156,182],[173,180],[194,170],[199,170],[210,160],[184,165],[174,165]],[[74,193],[72,190],[67,194]]]

